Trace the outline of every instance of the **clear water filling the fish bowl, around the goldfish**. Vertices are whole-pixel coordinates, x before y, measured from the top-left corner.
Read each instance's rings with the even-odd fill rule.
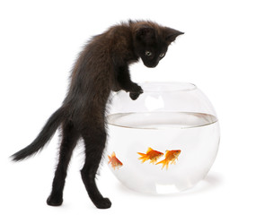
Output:
[[[147,112],[108,116],[109,166],[119,181],[143,193],[176,193],[196,185],[211,168],[218,149],[216,116],[192,112]],[[139,153],[163,153],[155,162],[142,163]],[[161,161],[170,150],[180,150],[174,160]],[[111,155],[120,162],[115,168]],[[167,160],[168,161],[168,160]]]

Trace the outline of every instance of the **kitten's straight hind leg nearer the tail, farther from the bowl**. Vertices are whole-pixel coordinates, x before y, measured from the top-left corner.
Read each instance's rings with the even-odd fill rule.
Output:
[[[62,142],[59,149],[59,160],[52,183],[52,191],[47,203],[51,206],[59,206],[63,202],[63,189],[66,179],[66,169],[70,161],[72,151],[79,139],[79,133],[72,122],[65,122],[62,130]]]

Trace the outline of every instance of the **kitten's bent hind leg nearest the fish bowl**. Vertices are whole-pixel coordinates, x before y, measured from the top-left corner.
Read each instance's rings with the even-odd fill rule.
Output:
[[[105,129],[96,126],[87,127],[82,135],[85,142],[85,163],[81,170],[81,176],[85,188],[97,208],[108,209],[111,206],[111,202],[108,198],[102,197],[95,182],[95,176],[105,148]]]

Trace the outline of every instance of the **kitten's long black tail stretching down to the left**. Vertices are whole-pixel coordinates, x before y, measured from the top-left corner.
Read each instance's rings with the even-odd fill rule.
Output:
[[[58,108],[57,111],[49,117],[48,122],[46,123],[46,125],[44,125],[37,138],[33,142],[31,142],[30,145],[13,154],[11,156],[11,159],[13,159],[13,161],[26,159],[37,151],[42,150],[42,148],[46,145],[47,142],[49,142],[53,134],[56,132],[58,125],[60,125],[60,123],[63,121],[64,115],[65,108]]]

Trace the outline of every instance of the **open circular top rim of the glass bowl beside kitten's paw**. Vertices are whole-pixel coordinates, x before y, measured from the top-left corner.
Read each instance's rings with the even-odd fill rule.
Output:
[[[138,82],[138,85],[144,92],[178,92],[198,89],[196,84],[190,82]],[[146,89],[147,87],[149,89]]]

